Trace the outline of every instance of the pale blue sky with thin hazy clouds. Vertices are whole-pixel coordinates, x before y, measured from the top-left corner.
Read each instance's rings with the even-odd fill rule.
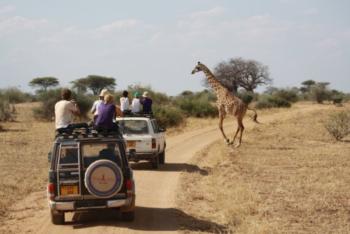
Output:
[[[230,58],[269,67],[272,85],[312,79],[350,92],[348,0],[0,0],[0,88],[30,91],[88,75],[116,89],[150,85],[177,95],[204,89],[197,61]],[[260,89],[262,90],[262,89]]]

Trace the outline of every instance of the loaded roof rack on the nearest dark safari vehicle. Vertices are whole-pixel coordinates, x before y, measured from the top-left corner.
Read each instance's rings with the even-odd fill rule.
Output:
[[[123,135],[118,129],[117,131],[110,131],[104,129],[102,131],[97,131],[93,128],[75,128],[72,130],[67,130],[64,132],[56,132],[56,139],[83,139],[83,138],[98,138],[98,137],[108,137],[108,138],[122,138]]]

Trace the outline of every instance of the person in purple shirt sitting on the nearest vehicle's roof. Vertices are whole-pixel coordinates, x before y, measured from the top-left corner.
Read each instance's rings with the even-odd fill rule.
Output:
[[[95,123],[97,131],[118,129],[117,124],[113,122],[116,116],[116,106],[113,99],[112,95],[107,94],[104,97],[104,102],[99,105]]]

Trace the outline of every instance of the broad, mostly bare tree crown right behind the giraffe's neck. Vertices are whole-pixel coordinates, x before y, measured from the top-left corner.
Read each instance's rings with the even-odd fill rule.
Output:
[[[253,92],[259,85],[267,85],[272,81],[267,66],[243,58],[232,58],[219,63],[214,69],[214,74],[232,92],[237,92],[239,87]]]

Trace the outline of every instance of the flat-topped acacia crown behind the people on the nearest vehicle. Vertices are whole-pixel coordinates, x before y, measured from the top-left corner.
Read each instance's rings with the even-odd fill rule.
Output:
[[[98,75],[89,75],[85,78],[72,81],[71,83],[77,92],[84,93],[89,89],[94,95],[98,95],[103,88],[114,90],[115,86],[117,85],[113,77]]]

